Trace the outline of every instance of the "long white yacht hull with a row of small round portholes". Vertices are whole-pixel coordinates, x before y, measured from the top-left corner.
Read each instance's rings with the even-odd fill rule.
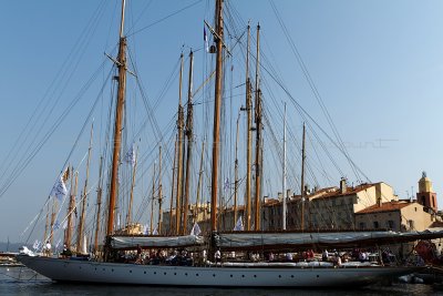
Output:
[[[165,286],[320,287],[375,283],[414,267],[264,268],[190,267],[70,261],[20,255],[27,267],[60,282]]]

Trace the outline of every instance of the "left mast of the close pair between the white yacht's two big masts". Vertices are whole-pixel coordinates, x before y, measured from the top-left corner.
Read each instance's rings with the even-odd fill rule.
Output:
[[[181,207],[182,207],[182,181],[183,181],[183,127],[184,127],[184,113],[182,106],[182,83],[183,83],[183,53],[181,54],[181,71],[178,82],[178,120],[177,120],[177,133],[178,133],[178,146],[177,146],[177,196],[175,203],[175,234],[181,233]]]

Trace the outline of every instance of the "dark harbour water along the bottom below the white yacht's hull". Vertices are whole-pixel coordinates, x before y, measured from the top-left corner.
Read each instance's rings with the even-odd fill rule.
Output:
[[[193,295],[193,296],[265,296],[265,295],[443,295],[431,285],[393,284],[360,289],[234,289],[234,288],[169,288],[147,286],[106,286],[56,284],[24,267],[0,267],[0,295]]]

